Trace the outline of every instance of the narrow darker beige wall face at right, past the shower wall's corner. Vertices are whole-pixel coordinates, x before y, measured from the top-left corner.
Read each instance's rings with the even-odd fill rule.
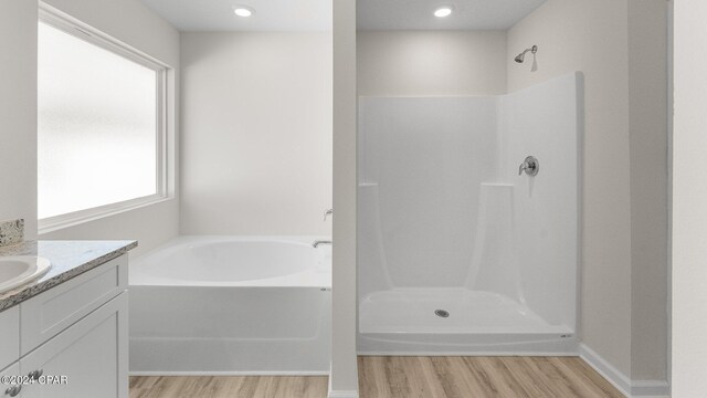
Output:
[[[667,11],[665,0],[629,1],[633,380],[667,375]]]

